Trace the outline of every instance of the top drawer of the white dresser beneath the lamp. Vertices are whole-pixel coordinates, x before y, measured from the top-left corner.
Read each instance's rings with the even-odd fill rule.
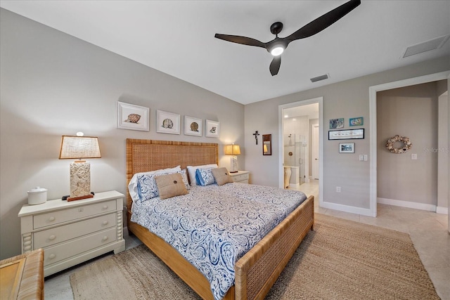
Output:
[[[72,207],[60,211],[51,211],[46,214],[37,214],[33,216],[33,228],[42,228],[115,210],[116,200],[109,200],[100,203],[86,204],[79,207]]]

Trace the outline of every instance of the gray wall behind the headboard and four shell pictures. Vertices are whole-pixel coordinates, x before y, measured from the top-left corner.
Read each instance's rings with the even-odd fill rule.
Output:
[[[244,145],[244,106],[198,86],[1,9],[0,259],[20,254],[18,212],[27,190],[49,199],[69,193],[70,160],[59,160],[62,135],[98,136],[91,189],[126,193],[125,139]],[[150,132],[116,129],[117,100],[150,107]],[[219,121],[220,138],[156,133],[156,110]],[[241,147],[239,166],[245,169]]]

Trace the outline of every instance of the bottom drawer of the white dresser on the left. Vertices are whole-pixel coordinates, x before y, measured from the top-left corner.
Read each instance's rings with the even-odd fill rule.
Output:
[[[44,267],[63,261],[71,256],[82,254],[91,249],[101,247],[117,240],[117,228],[99,231],[86,237],[58,244],[44,249]]]

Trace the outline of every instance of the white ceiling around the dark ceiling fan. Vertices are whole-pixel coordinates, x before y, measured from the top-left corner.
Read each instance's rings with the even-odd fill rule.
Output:
[[[271,41],[344,4],[336,1],[0,1],[0,6],[74,37],[248,104],[450,56],[442,48],[401,58],[406,47],[450,34],[450,1],[362,0],[326,30],[290,43],[278,75],[264,48],[215,33]],[[330,78],[311,83],[312,77]]]

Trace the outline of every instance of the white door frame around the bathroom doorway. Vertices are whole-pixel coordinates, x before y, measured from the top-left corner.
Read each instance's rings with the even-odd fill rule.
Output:
[[[278,105],[278,187],[283,188],[284,185],[284,137],[283,137],[283,129],[284,129],[284,116],[283,109],[303,106],[313,103],[319,103],[319,203],[321,201],[320,195],[323,195],[323,97],[317,97],[307,100],[300,100],[293,103]]]

